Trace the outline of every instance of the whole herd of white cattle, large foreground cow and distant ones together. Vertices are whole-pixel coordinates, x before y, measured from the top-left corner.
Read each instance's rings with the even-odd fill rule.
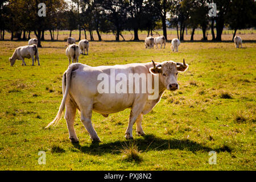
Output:
[[[38,60],[39,63],[39,54],[37,47],[37,39],[30,39],[28,41],[28,46],[22,46],[15,49],[13,56],[9,58],[11,65],[14,65],[15,60],[22,60],[22,65],[26,65],[24,58],[32,58],[32,65],[34,61]],[[83,123],[85,129],[88,131],[90,138],[94,141],[99,141],[96,131],[92,125],[92,111],[102,114],[104,117],[108,117],[109,114],[117,113],[119,111],[125,110],[127,108],[131,109],[129,124],[126,129],[125,138],[133,138],[133,125],[136,122],[137,127],[136,131],[138,135],[144,135],[142,129],[142,118],[144,114],[149,113],[156,104],[160,101],[164,90],[174,91],[179,89],[179,84],[177,83],[177,74],[178,72],[185,72],[188,69],[188,64],[176,63],[174,61],[163,61],[162,63],[155,63],[152,60],[152,63],[133,63],[125,65],[114,65],[114,66],[99,66],[99,67],[90,67],[89,65],[77,63],[79,55],[81,53],[85,54],[85,49],[88,55],[89,42],[88,40],[81,40],[79,45],[76,44],[74,38],[67,39],[68,47],[66,49],[66,55],[69,59],[69,64],[75,61],[76,63],[69,65],[67,71],[63,74],[62,80],[62,89],[63,89],[63,99],[59,107],[59,111],[51,123],[48,124],[46,128],[51,125],[56,125],[61,118],[64,108],[65,109],[65,119],[67,121],[67,127],[69,131],[69,139],[71,142],[78,142],[78,138],[74,128],[76,110],[80,110],[81,113],[81,122]],[[242,47],[242,39],[239,36],[234,38],[234,43],[236,47]],[[166,39],[164,36],[158,36],[156,38],[148,37],[144,40],[146,48],[160,48],[164,45],[166,46]],[[172,51],[178,51],[180,45],[179,39],[172,39],[171,42]],[[35,58],[34,58],[35,56]],[[98,92],[98,85],[100,85],[101,80],[98,80],[100,74],[106,75],[106,80],[112,82],[114,74],[121,73],[122,81],[125,81],[127,88],[129,87],[129,93],[120,92],[120,93],[100,93]],[[146,83],[151,83],[154,85],[154,95],[156,98],[151,99],[150,96],[152,92],[147,90],[146,93],[137,93],[134,88],[136,88],[135,82],[130,80],[125,80],[129,78],[130,75],[133,75],[136,82],[136,76],[144,76]],[[147,75],[147,76],[146,76]],[[150,75],[148,77],[148,75]],[[115,78],[117,79],[117,78]],[[104,78],[105,81],[105,78]],[[158,82],[157,86],[155,82]],[[113,83],[113,82],[112,82]],[[142,81],[137,83],[141,84]],[[117,88],[119,82],[114,81],[114,88]],[[130,92],[130,87],[133,89],[133,92]],[[156,89],[156,87],[158,87]],[[105,88],[105,85],[104,85]],[[111,90],[112,87],[110,87]],[[142,87],[141,87],[142,88]],[[108,86],[109,89],[109,86]]]

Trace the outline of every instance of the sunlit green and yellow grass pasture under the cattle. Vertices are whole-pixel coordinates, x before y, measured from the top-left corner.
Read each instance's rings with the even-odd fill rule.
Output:
[[[90,42],[89,55],[79,62],[91,66],[182,61],[180,89],[166,90],[162,100],[144,115],[146,136],[124,138],[129,109],[104,118],[93,112],[92,123],[100,143],[75,119],[79,143],[71,143],[65,119],[51,129],[62,99],[61,77],[68,67],[65,42],[42,42],[40,67],[32,60],[8,58],[27,42],[0,42],[0,169],[1,170],[255,170],[256,169],[256,44],[243,42],[185,42],[179,52],[145,49],[143,42]],[[123,152],[138,148],[138,158]],[[135,148],[135,147],[134,147]],[[38,152],[46,151],[46,164]],[[217,152],[210,165],[209,151]]]

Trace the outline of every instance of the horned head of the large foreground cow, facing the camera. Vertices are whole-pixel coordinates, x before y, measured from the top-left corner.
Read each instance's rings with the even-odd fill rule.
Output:
[[[152,74],[159,74],[159,80],[167,88],[167,90],[179,89],[179,84],[177,83],[178,72],[185,72],[188,69],[188,64],[175,63],[174,61],[164,61],[158,65],[152,60],[153,66],[150,68]]]

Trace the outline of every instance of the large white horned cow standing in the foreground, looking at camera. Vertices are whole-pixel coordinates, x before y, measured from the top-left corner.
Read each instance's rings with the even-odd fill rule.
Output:
[[[89,65],[81,63],[71,64],[63,75],[63,99],[59,111],[55,119],[46,126],[46,129],[59,122],[61,114],[66,107],[65,119],[69,131],[69,139],[71,139],[71,142],[78,142],[79,139],[77,138],[74,129],[74,119],[76,110],[79,109],[81,112],[81,122],[90,134],[90,138],[94,141],[99,141],[100,138],[92,126],[92,111],[96,111],[104,117],[108,117],[109,114],[131,108],[129,125],[125,133],[125,138],[133,138],[133,125],[135,122],[137,122],[137,134],[144,135],[141,125],[143,115],[149,113],[160,101],[164,90],[167,89],[173,91],[179,88],[179,85],[177,84],[177,73],[184,72],[187,68],[188,64],[185,64],[184,59],[183,63],[164,61],[162,63],[157,63],[157,65],[155,65],[154,61],[152,61],[152,63],[134,63],[100,67],[90,67]],[[106,80],[110,80],[111,82],[113,79],[113,72],[114,74],[121,74],[122,77],[126,78],[129,75],[141,74],[151,76],[145,77],[145,79],[154,85],[155,82],[158,82],[157,89],[156,86],[154,86],[154,89],[157,90],[154,94],[157,92],[157,96],[149,98],[148,96],[150,96],[152,92],[134,93],[134,85],[136,81],[132,82],[132,84],[127,84],[127,80],[126,84],[127,86],[132,86],[132,92],[99,92],[98,86],[101,82],[101,80],[99,80],[99,75],[105,74]],[[117,86],[118,83],[115,81],[112,82],[114,86]],[[142,81],[136,83],[142,85]],[[113,87],[110,87],[110,90],[111,88]]]

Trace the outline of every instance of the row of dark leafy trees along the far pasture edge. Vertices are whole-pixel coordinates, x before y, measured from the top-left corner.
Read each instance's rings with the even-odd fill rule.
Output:
[[[46,4],[46,16],[39,16],[39,3]],[[209,16],[210,3],[215,3],[216,16]],[[0,0],[0,40],[5,39],[5,31],[11,33],[11,40],[30,39],[31,32],[38,38],[38,46],[44,40],[44,32],[49,31],[51,40],[58,40],[59,30],[79,30],[89,32],[94,40],[101,33],[112,32],[115,40],[123,38],[122,31],[133,31],[133,40],[139,40],[138,31],[146,30],[147,36],[162,28],[167,39],[167,28],[176,28],[177,38],[184,40],[185,28],[192,28],[191,40],[196,28],[203,31],[207,40],[207,30],[211,30],[212,40],[221,41],[223,28],[236,31],[255,27],[256,2],[254,0]],[[214,33],[216,30],[216,35]],[[55,37],[54,32],[57,32]]]

